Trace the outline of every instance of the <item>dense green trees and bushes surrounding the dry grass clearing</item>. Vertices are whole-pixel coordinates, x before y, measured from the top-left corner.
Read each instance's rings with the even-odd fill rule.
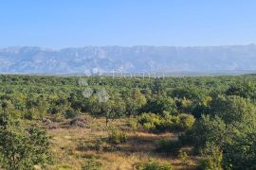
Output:
[[[196,166],[202,169],[256,168],[254,75],[0,76],[0,99],[0,168],[54,164],[47,135],[55,128],[51,123],[70,120],[69,125],[86,128],[85,114],[104,118],[112,146],[129,141],[124,129],[110,126],[125,119],[134,131],[175,133],[178,140],[160,139],[154,152],[176,156],[184,164],[198,157]],[[190,149],[184,151],[186,146]],[[81,150],[89,147],[101,150],[99,145],[78,145]],[[93,158],[81,168],[102,166]],[[174,169],[156,161],[137,162],[135,168]]]

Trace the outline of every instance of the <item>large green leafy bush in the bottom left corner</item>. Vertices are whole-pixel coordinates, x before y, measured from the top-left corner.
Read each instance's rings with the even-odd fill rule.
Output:
[[[0,162],[7,169],[33,169],[49,161],[49,140],[39,128],[0,127]]]

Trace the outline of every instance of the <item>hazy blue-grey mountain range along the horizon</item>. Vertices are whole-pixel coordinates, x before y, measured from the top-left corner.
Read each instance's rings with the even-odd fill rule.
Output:
[[[100,70],[166,73],[254,73],[256,45],[85,46],[61,50],[40,47],[0,49],[1,73],[82,74]]]

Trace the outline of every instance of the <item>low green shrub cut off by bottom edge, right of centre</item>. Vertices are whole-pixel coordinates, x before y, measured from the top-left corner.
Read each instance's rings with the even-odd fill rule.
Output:
[[[168,163],[158,163],[156,161],[149,161],[144,163],[137,163],[137,170],[174,170],[174,167]]]

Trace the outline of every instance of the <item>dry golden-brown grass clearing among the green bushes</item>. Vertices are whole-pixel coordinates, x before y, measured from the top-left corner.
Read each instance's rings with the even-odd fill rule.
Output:
[[[175,169],[194,169],[196,160],[191,159],[189,165],[183,165],[177,158],[155,152],[155,144],[159,139],[177,140],[174,133],[153,134],[134,131],[127,127],[127,121],[119,119],[110,126],[125,129],[128,141],[125,144],[108,144],[108,131],[103,118],[93,119],[88,127],[68,127],[66,123],[58,128],[48,130],[52,137],[52,148],[56,158],[55,165],[49,169],[81,169],[84,159],[94,157],[103,164],[104,170],[132,170],[134,164],[154,159],[159,162],[169,162]],[[99,148],[86,147],[96,145]],[[79,149],[85,144],[84,149]],[[83,147],[82,147],[83,148]]]

